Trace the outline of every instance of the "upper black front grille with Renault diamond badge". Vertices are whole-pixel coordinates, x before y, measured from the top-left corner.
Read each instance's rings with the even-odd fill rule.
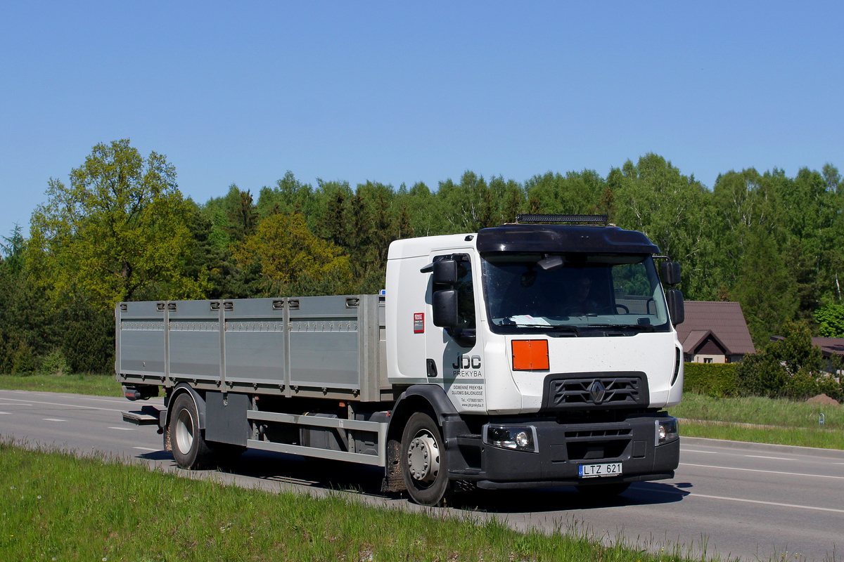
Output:
[[[647,406],[647,377],[641,372],[596,372],[549,375],[544,409]]]

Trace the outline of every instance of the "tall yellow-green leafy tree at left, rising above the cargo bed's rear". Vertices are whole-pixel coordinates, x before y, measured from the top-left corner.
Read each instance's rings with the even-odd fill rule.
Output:
[[[82,294],[111,308],[138,296],[203,297],[203,280],[184,273],[188,207],[163,155],[143,158],[127,139],[98,144],[69,187],[50,179],[46,193],[30,249],[56,301]]]

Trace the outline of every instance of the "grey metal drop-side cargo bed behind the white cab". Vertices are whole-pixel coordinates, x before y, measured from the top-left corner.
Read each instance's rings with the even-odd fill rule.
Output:
[[[221,392],[394,399],[384,297],[122,302],[118,380]]]

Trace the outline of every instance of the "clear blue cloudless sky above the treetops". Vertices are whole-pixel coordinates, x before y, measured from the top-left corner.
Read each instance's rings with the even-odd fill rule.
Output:
[[[120,138],[200,203],[286,170],[844,169],[842,21],[840,2],[4,2],[0,234]]]

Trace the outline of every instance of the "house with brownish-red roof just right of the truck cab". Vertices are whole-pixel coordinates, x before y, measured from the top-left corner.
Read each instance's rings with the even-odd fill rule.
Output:
[[[756,352],[738,302],[686,301],[684,308],[677,335],[685,361],[734,363]]]

